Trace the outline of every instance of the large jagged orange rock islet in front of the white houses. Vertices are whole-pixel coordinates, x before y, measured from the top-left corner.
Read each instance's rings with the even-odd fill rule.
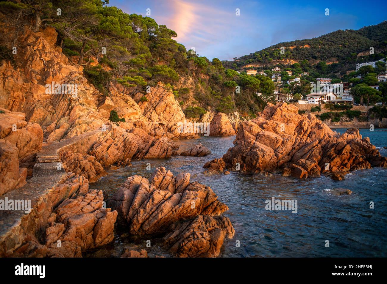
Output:
[[[283,175],[298,178],[321,173],[348,172],[387,167],[368,138],[358,129],[339,135],[313,114],[300,115],[294,105],[268,104],[256,119],[240,123],[234,147],[223,155],[226,168],[261,172],[282,169]],[[219,160],[205,167],[217,170]]]

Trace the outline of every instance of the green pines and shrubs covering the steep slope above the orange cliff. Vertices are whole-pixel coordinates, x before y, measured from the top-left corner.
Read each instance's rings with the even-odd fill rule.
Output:
[[[161,81],[183,109],[188,108],[187,114],[195,110],[193,117],[203,114],[202,109],[239,111],[253,117],[272,101],[270,78],[226,70],[217,58],[209,60],[194,50],[187,51],[167,26],[107,4],[108,0],[22,0],[1,2],[0,11],[3,22],[13,19],[7,21],[7,28],[15,31],[15,39],[26,25],[34,31],[46,25],[55,27],[57,46],[70,60],[84,66],[89,82],[104,95],[109,95],[111,81],[144,94],[147,86]],[[11,60],[12,43],[5,43],[1,50],[1,58]]]

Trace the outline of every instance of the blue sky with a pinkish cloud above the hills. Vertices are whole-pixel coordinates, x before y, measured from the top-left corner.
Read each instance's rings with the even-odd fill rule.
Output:
[[[109,5],[155,19],[175,31],[187,50],[210,60],[232,60],[284,41],[387,20],[385,0],[110,0]]]

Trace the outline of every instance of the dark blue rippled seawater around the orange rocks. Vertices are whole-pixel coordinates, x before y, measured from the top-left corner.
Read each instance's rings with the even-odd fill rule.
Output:
[[[336,129],[344,133],[346,129]],[[361,129],[363,137],[370,137],[382,155],[387,155],[387,129]],[[228,205],[225,213],[235,228],[235,237],[226,240],[221,257],[386,257],[387,256],[387,169],[358,170],[346,175],[343,181],[329,177],[306,180],[282,177],[279,173],[265,177],[259,174],[231,172],[229,175],[205,177],[203,165],[221,157],[233,146],[230,137],[202,137],[181,140],[178,152],[202,143],[212,153],[205,157],[172,157],[163,160],[132,162],[131,167],[111,171],[92,189],[102,189],[105,198],[111,197],[130,175],[150,177],[156,167],[166,167],[175,175],[191,173],[191,181],[208,185]],[[151,170],[146,170],[151,163]],[[194,177],[193,177],[194,176]],[[336,195],[334,188],[350,189],[351,195]],[[296,199],[298,212],[265,210],[265,200]],[[374,209],[370,209],[370,202]],[[102,249],[84,256],[119,256],[122,248],[135,243],[146,248],[146,238],[126,236],[125,228],[117,227],[115,240]],[[149,237],[150,238],[150,237]],[[148,239],[149,239],[148,238]],[[168,255],[159,239],[153,237],[150,256]],[[236,247],[236,241],[240,247]],[[325,247],[325,241],[329,247]]]

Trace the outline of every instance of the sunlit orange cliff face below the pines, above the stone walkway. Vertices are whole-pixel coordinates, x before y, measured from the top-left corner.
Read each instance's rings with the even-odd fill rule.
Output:
[[[36,33],[26,29],[17,39],[17,67],[10,62],[0,66],[0,107],[24,112],[26,121],[41,125],[45,141],[72,138],[101,128],[109,123],[111,110],[149,134],[161,136],[169,132],[173,133],[169,138],[189,138],[190,135],[175,131],[175,124],[184,121],[185,116],[172,92],[162,84],[150,89],[146,102],[140,101],[144,94],[133,94],[118,84],[110,84],[110,94],[105,97],[87,82],[83,67],[55,46],[56,41],[57,33],[52,27]],[[64,84],[70,84],[73,92],[64,94],[62,89],[55,93],[56,86]]]

